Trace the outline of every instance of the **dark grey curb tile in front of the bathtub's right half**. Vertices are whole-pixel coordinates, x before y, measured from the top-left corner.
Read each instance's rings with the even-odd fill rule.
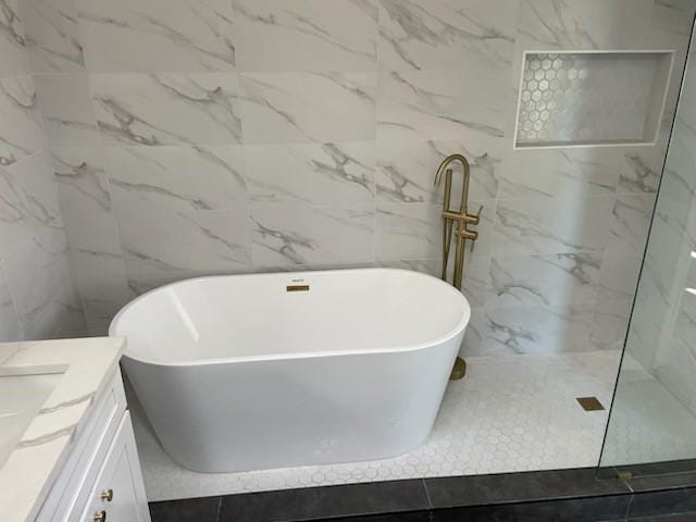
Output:
[[[308,487],[222,498],[220,522],[282,522],[426,510],[423,481]]]

